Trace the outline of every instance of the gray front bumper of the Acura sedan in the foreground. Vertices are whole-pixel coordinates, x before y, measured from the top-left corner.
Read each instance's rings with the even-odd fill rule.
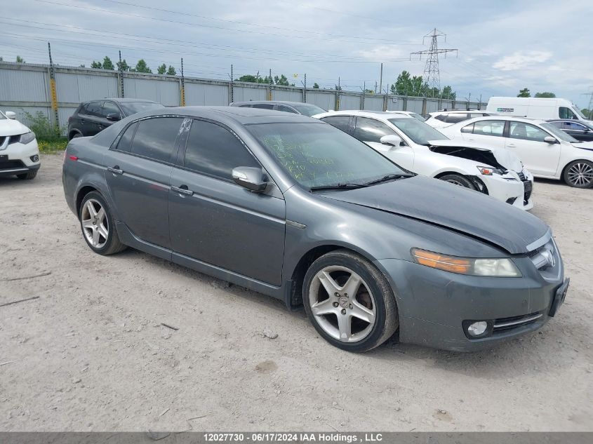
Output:
[[[513,260],[523,277],[465,276],[406,260],[375,261],[394,289],[399,340],[477,351],[540,329],[554,315],[552,307],[564,283],[561,260],[552,280],[543,278],[528,257]],[[467,321],[488,321],[490,334],[469,339],[464,330]]]

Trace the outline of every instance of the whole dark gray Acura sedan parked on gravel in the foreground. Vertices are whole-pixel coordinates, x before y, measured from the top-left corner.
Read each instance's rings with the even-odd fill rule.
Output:
[[[95,253],[126,247],[305,306],[349,351],[471,351],[537,330],[566,296],[537,217],[414,175],[327,123],[241,107],[135,114],[64,157]]]

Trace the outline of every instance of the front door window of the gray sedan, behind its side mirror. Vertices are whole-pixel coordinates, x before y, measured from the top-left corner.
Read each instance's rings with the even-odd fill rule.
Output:
[[[236,135],[201,120],[194,120],[189,130],[184,166],[224,180],[232,180],[232,169],[238,166],[261,168]]]

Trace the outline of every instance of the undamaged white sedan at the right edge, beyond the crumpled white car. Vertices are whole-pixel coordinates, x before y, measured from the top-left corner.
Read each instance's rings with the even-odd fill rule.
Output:
[[[470,143],[488,143],[513,152],[535,175],[564,180],[571,187],[593,187],[593,142],[579,142],[542,120],[512,116],[471,119],[441,129]]]

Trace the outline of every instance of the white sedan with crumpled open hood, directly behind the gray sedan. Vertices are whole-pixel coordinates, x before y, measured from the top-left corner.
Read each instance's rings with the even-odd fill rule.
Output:
[[[426,123],[404,114],[339,111],[314,117],[414,173],[481,191],[517,208],[533,208],[533,176],[507,150],[449,140]]]

